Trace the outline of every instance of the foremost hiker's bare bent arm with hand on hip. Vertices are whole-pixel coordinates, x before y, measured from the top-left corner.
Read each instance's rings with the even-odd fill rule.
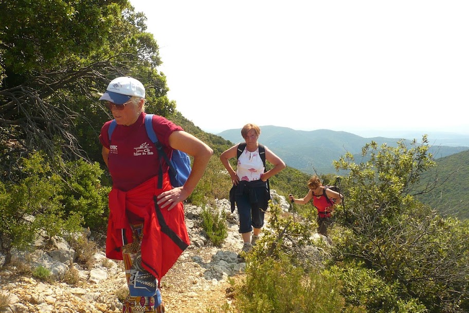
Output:
[[[173,149],[181,150],[194,157],[191,173],[184,186],[158,195],[157,204],[161,205],[161,208],[169,205],[168,210],[171,210],[178,202],[187,199],[194,191],[195,186],[204,175],[213,150],[203,141],[184,131],[173,132],[169,136],[169,145]]]

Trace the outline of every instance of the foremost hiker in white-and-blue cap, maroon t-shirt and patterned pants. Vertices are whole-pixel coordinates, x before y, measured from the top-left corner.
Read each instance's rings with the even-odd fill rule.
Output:
[[[190,244],[182,201],[195,189],[213,151],[181,126],[154,115],[153,130],[168,157],[177,149],[194,159],[184,186],[173,188],[168,164],[147,135],[145,87],[119,77],[99,100],[106,101],[117,122],[112,138],[112,121],[104,123],[99,140],[113,180],[106,256],[124,261],[130,291],[122,311],[164,312],[160,280]]]

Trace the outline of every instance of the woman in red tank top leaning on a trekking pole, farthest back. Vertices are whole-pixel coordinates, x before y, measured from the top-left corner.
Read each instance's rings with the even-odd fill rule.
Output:
[[[335,206],[342,202],[342,195],[330,188],[323,187],[322,182],[317,175],[314,175],[310,180],[308,180],[308,188],[310,191],[308,191],[308,193],[301,199],[295,199],[293,195],[290,194],[290,201],[304,205],[313,199],[313,205],[316,207],[318,212],[317,232],[326,236],[328,238],[328,242],[331,243],[327,229],[332,224],[331,215]]]

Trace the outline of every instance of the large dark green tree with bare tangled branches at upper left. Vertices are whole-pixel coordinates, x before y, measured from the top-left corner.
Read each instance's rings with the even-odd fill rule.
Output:
[[[0,9],[2,181],[19,180],[17,160],[34,150],[100,160],[99,130],[110,115],[97,100],[117,76],[148,86],[154,113],[174,112],[146,17],[127,1],[7,0]]]

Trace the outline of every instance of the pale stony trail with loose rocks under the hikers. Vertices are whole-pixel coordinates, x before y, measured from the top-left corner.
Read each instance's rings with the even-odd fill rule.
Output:
[[[280,205],[287,210],[284,197],[276,197],[281,198]],[[228,237],[221,247],[211,246],[199,227],[202,209],[185,206],[191,245],[161,280],[167,313],[216,312],[223,306],[233,305],[230,281],[241,280],[246,266],[237,257],[242,248],[242,239],[238,233],[236,215],[230,212],[229,201],[217,200],[217,207],[228,214]],[[61,279],[45,282],[31,275],[19,274],[19,266],[29,263],[32,268],[42,265],[57,277],[63,277],[68,265],[58,261],[60,253],[57,251],[14,255],[14,266],[0,271],[0,308],[3,308],[0,312],[120,312],[122,304],[118,296],[127,291],[123,264],[106,259],[103,245],[99,246],[99,250],[93,256],[91,269],[74,263],[80,277],[80,282],[74,285],[68,285]],[[70,248],[64,251],[70,251]],[[66,256],[62,259],[67,260]]]

